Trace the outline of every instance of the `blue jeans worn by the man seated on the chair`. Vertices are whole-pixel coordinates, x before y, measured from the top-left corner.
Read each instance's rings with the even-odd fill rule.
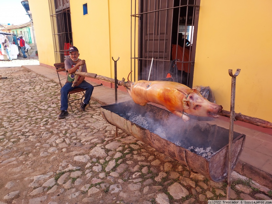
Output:
[[[68,92],[72,91],[73,89],[76,88],[81,88],[86,90],[85,92],[85,98],[83,102],[85,104],[88,104],[90,102],[91,96],[92,96],[92,91],[93,91],[93,86],[86,82],[85,80],[79,84],[79,86],[72,87],[71,82],[67,82],[61,89],[60,89],[60,110],[61,111],[66,111],[68,108]]]

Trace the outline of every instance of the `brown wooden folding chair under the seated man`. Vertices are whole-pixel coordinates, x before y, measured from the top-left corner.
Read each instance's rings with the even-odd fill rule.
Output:
[[[66,72],[66,70],[65,70],[65,68],[64,68],[64,62],[62,62],[62,63],[56,63],[56,64],[54,64],[54,66],[56,67],[56,71],[57,71],[58,78],[59,78],[59,81],[60,81],[60,87],[62,88],[61,80],[66,79],[66,77],[63,78],[63,79],[60,79],[60,73],[59,73],[59,72],[63,72],[63,71]],[[99,85],[96,85],[96,86],[102,86],[102,85],[103,85],[103,84],[99,84]],[[96,87],[96,86],[94,86],[94,87]],[[69,92],[68,92],[68,103],[69,103],[69,105],[70,105],[72,111],[73,111],[72,106],[77,105],[77,104],[79,104],[79,103],[82,103],[82,100],[83,100],[83,98],[85,97],[85,92],[84,92],[84,91],[85,91],[85,89],[75,88],[75,89],[73,89],[72,91],[69,91]],[[74,100],[71,100],[71,101],[69,100],[71,94],[73,94],[73,93],[79,93],[79,92],[82,92],[82,93],[83,93],[83,96],[82,96],[80,99],[74,99]],[[71,105],[71,102],[73,102],[73,101],[78,101],[78,100],[80,100],[79,103],[75,103],[75,104]],[[89,103],[89,106],[91,107],[90,103]]]

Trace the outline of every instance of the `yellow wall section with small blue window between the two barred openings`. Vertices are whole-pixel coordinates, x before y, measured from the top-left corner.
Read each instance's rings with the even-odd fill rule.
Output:
[[[83,16],[87,3],[88,15]],[[127,77],[130,70],[130,1],[70,0],[73,45],[79,49],[91,73]],[[126,8],[126,9],[125,9]],[[129,8],[129,9],[128,9]]]

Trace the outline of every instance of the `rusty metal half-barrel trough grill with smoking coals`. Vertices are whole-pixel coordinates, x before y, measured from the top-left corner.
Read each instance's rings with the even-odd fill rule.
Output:
[[[132,100],[104,105],[100,110],[108,123],[132,134],[138,140],[177,160],[192,171],[215,182],[226,179],[228,129],[193,119],[184,122],[165,109],[150,104],[141,106]],[[135,121],[135,118],[139,120]],[[238,162],[244,140],[244,134],[234,132],[232,170]],[[212,153],[208,157],[202,157],[188,150],[192,146],[204,150],[210,147]]]

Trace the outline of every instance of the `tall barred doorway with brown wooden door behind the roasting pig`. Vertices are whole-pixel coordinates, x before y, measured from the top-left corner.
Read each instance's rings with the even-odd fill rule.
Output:
[[[134,69],[134,80],[136,66],[138,80],[147,80],[149,73],[150,80],[161,80],[166,77],[170,60],[174,60],[178,82],[192,87],[199,5],[200,0],[139,0],[136,13],[136,0],[131,0],[131,70]],[[189,46],[184,46],[188,42]]]

